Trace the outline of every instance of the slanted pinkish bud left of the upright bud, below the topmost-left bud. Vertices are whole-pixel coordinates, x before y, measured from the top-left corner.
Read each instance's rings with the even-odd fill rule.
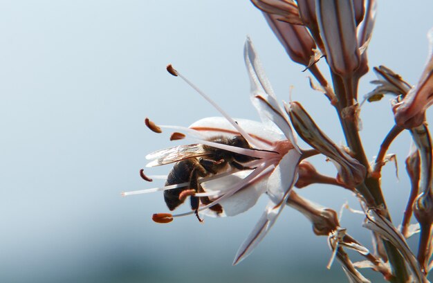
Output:
[[[308,62],[310,62],[311,57],[314,55],[313,48],[315,48],[315,43],[305,26],[280,21],[278,15],[266,12],[264,13],[264,17],[279,42],[286,49],[291,60],[308,66]]]

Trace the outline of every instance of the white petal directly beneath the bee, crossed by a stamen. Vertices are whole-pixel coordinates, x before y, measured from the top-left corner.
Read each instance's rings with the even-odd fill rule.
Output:
[[[230,188],[232,184],[241,181],[248,176],[250,172],[250,170],[236,172],[232,175],[224,176],[213,181],[204,182],[201,185],[206,192],[220,191],[221,194],[223,194],[226,188]],[[260,181],[252,182],[251,185],[239,190],[228,199],[221,201],[219,204],[223,207],[225,216],[234,216],[252,208],[264,192],[266,192],[266,179],[261,179]],[[208,210],[203,211],[204,214],[210,216],[215,215],[212,211],[209,212],[210,213],[208,213]]]

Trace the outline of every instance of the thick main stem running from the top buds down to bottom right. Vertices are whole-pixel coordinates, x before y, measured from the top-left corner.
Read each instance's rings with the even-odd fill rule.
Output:
[[[347,145],[351,149],[351,152],[353,152],[354,157],[367,168],[365,181],[357,187],[357,190],[365,198],[368,207],[382,207],[384,216],[391,221],[382,190],[380,189],[380,183],[378,179],[373,178],[369,174],[369,162],[358,133],[358,117],[355,108],[356,105],[354,104],[354,98],[357,97],[358,79],[354,77],[343,78],[332,73],[332,71],[331,75],[335,95],[338,98],[338,104],[336,105],[338,118],[340,119]],[[349,115],[347,115],[347,113],[349,113]],[[394,274],[390,281],[393,283],[407,282],[407,269],[400,253],[389,241],[383,241],[383,244]]]

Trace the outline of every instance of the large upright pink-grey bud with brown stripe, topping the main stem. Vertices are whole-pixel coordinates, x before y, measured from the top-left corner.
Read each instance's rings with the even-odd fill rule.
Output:
[[[333,73],[353,75],[360,66],[360,51],[352,0],[316,1],[317,23],[326,61]]]

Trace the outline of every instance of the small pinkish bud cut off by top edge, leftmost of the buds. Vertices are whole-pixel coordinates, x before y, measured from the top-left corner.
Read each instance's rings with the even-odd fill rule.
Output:
[[[288,0],[251,0],[251,2],[268,14],[278,15],[280,21],[291,24],[302,24],[297,5]]]

